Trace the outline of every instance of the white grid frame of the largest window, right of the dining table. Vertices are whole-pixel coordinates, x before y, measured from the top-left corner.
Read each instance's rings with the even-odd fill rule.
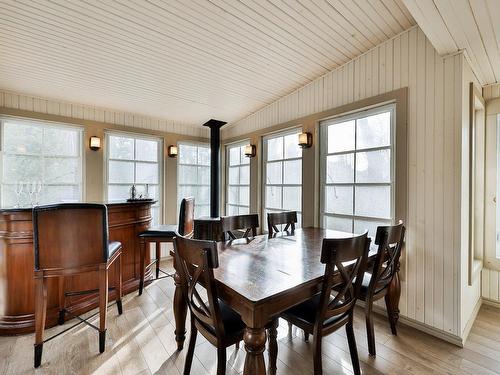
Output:
[[[355,143],[354,149],[350,149],[348,151],[340,151],[340,152],[328,152],[328,127],[330,125],[338,124],[338,123],[343,123],[347,121],[356,121],[358,119],[362,119],[368,116],[373,116],[385,112],[390,112],[391,113],[391,134],[390,134],[390,140],[391,140],[391,145],[390,146],[378,146],[378,147],[368,147],[368,148],[357,148],[357,145]],[[349,113],[345,114],[339,114],[334,117],[322,119],[319,121],[319,131],[320,131],[320,147],[319,147],[319,225],[321,228],[325,227],[325,216],[327,217],[338,217],[338,218],[349,218],[352,220],[352,231],[351,233],[355,233],[355,220],[363,220],[363,221],[387,221],[388,223],[394,224],[396,220],[396,164],[397,164],[397,150],[396,150],[396,103],[385,103],[385,104],[380,104],[378,106],[371,106],[370,108],[361,108],[359,110],[355,110]],[[355,122],[354,124],[355,127],[355,140],[357,139],[357,123]],[[390,166],[390,182],[387,183],[358,183],[356,182],[356,154],[357,153],[362,153],[362,152],[370,152],[370,151],[377,151],[377,150],[390,150],[391,153],[391,166]],[[326,167],[327,167],[327,157],[330,155],[343,155],[343,154],[353,154],[354,155],[354,176],[353,176],[353,182],[349,183],[326,183]],[[332,214],[332,213],[327,213],[325,212],[325,194],[326,194],[326,187],[327,186],[352,186],[353,187],[353,213],[352,215],[348,214]],[[363,215],[356,215],[355,213],[355,205],[356,205],[356,187],[357,186],[390,186],[391,188],[391,194],[390,194],[390,199],[391,199],[391,208],[390,208],[390,218],[380,218],[380,217],[371,217],[371,216],[363,216]]]

